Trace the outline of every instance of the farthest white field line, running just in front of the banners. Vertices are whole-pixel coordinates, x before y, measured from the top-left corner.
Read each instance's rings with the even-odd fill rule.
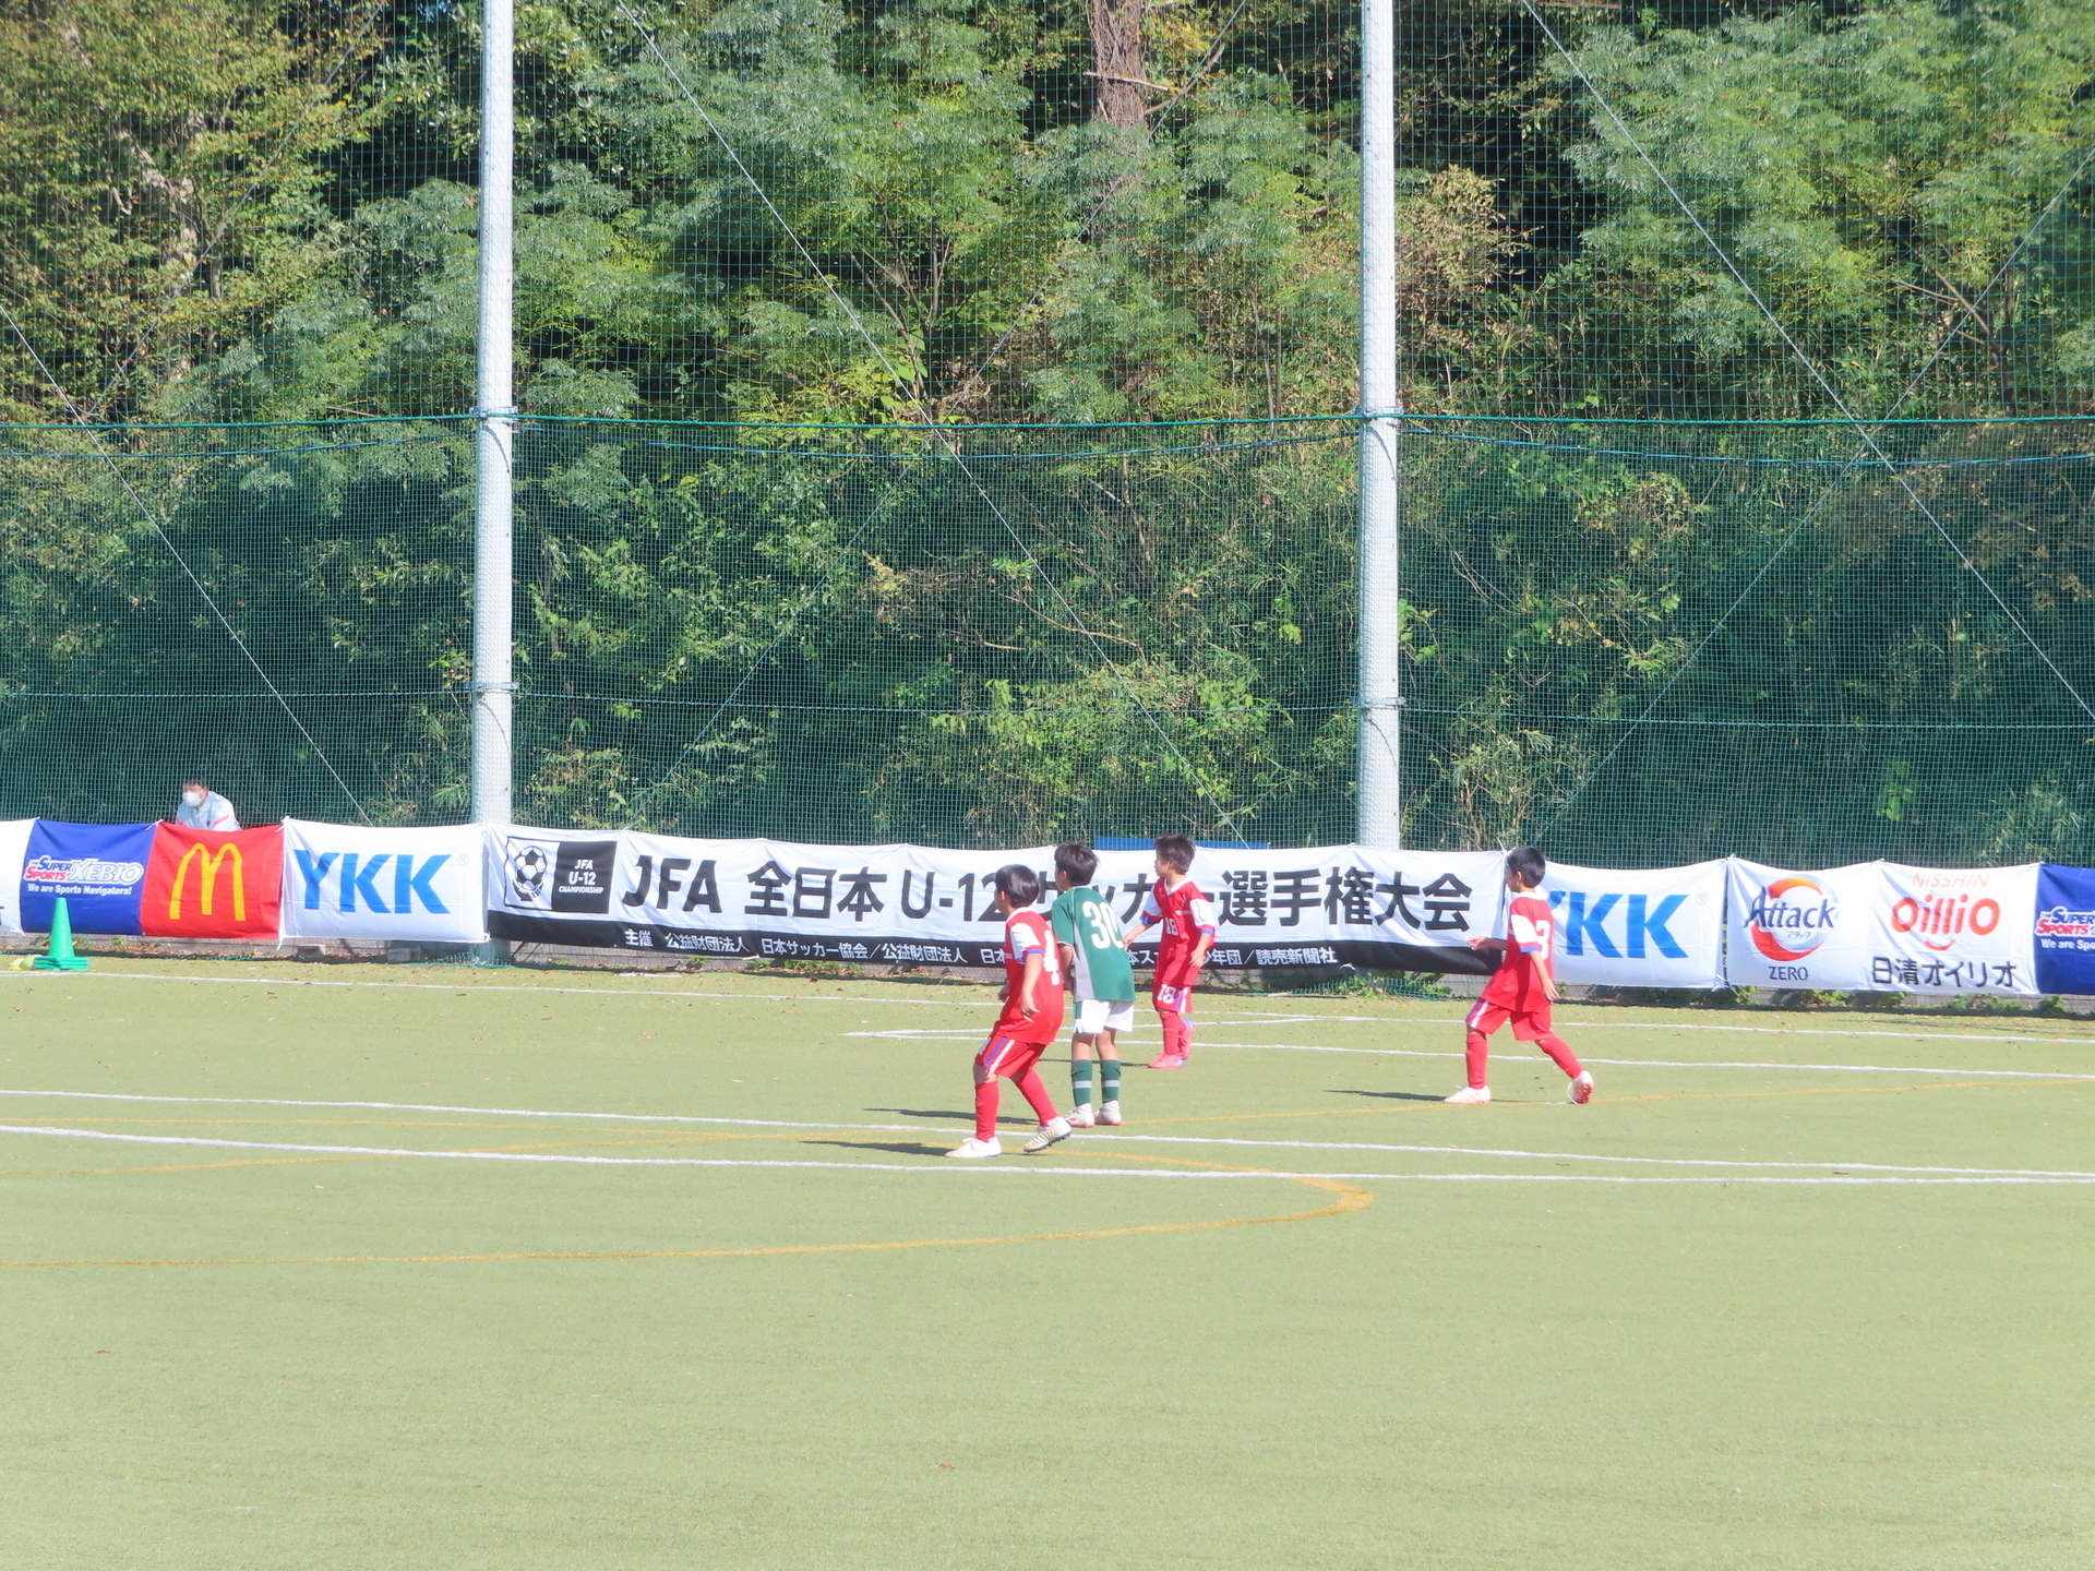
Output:
[[[869,997],[861,993],[702,993],[696,989],[670,987],[513,987],[509,982],[333,982],[325,978],[270,980],[264,976],[170,976],[157,972],[13,972],[0,970],[0,978],[65,976],[67,980],[96,982],[212,982],[216,987],[375,987],[406,993],[545,993],[574,997],[647,997],[647,999],[750,999],[754,1003],[905,1003],[913,1008],[953,1010],[995,1010],[991,999],[899,999]],[[1573,1005],[1575,1008],[1575,1005]],[[1458,1026],[1462,1016],[1383,1016],[1383,1014],[1219,1014],[1203,1012],[1203,1020],[1242,1020],[1247,1024],[1347,1024],[1347,1026]],[[1837,1031],[1831,1026],[1716,1026],[1674,1020],[1559,1020],[1573,1031],[1733,1031],[1756,1037],[1890,1037],[1892,1041],[2011,1041],[2011,1043],[2057,1043],[2066,1047],[2095,1047],[2095,1037],[2009,1037],[1994,1033],[1917,1033],[1917,1031]],[[899,1033],[851,1033],[851,1035],[899,1035]],[[1221,1045],[1221,1043],[1207,1043]],[[1376,1047],[1303,1047],[1301,1052],[1324,1054],[1372,1054]],[[1437,1058],[1437,1054],[1435,1054]],[[1607,1060],[1596,1060],[1607,1062]],[[1624,1060],[1628,1062],[1628,1060]],[[1693,1066],[1691,1066],[1693,1068]],[[1785,1068],[1785,1066],[1774,1066]]]

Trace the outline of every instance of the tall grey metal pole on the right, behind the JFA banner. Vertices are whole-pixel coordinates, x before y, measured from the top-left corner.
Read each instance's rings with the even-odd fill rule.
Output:
[[[1395,4],[1360,6],[1360,762],[1364,846],[1404,838],[1397,582],[1397,124]]]

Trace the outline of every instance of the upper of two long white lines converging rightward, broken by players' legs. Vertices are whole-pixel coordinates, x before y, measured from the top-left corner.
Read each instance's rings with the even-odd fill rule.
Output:
[[[71,1100],[92,1100],[92,1102],[186,1102],[186,1104],[210,1104],[210,1106],[245,1106],[245,1108],[352,1108],[352,1110],[385,1110],[385,1112],[471,1112],[480,1116],[501,1116],[501,1119],[616,1119],[626,1123],[679,1123],[679,1125],[731,1125],[742,1129],[798,1129],[807,1133],[880,1133],[880,1135],[962,1135],[972,1133],[966,1129],[941,1129],[936,1125],[920,1123],[788,1123],[779,1119],[698,1119],[683,1114],[647,1114],[647,1112],[547,1112],[547,1110],[520,1110],[520,1108],[453,1108],[436,1106],[425,1102],[289,1102],[274,1098],[233,1098],[233,1096],[119,1096],[115,1091],[8,1091],[0,1089],[0,1096],[21,1096],[21,1098],[71,1098]],[[0,1131],[19,1131],[17,1125],[0,1125]],[[52,1133],[44,1125],[36,1125],[38,1131]],[[67,1133],[67,1131],[57,1131]],[[101,1133],[101,1131],[90,1131]],[[109,1139],[153,1139],[151,1135],[107,1135]],[[2043,1179],[2087,1179],[2095,1183],[2095,1173],[2080,1173],[2072,1169],[2038,1169],[2038,1167],[1909,1167],[1909,1165],[1888,1165],[1888,1163],[1741,1163],[1735,1158],[1718,1156],[1613,1156],[1607,1152],[1565,1152],[1565,1150],[1508,1150],[1498,1146],[1397,1146],[1364,1139],[1242,1139],[1232,1135],[1146,1135],[1142,1131],[1129,1129],[1091,1129],[1083,1135],[1085,1142],[1102,1139],[1110,1144],[1119,1142],[1142,1142],[1152,1146],[1232,1146],[1247,1150],[1379,1150],[1379,1152],[1404,1152],[1420,1156],[1502,1156],[1510,1160],[1531,1160],[1531,1163],[1634,1163],[1649,1167],[1722,1167],[1722,1169],[1804,1169],[1810,1173],[1955,1173],[1967,1177],[2043,1177]],[[226,1144],[226,1142],[220,1142]],[[241,1142],[230,1142],[241,1144]],[[350,1150],[346,1146],[318,1146],[316,1150]],[[603,1158],[614,1160],[614,1158]],[[624,1160],[624,1158],[618,1158]],[[635,1158],[639,1160],[639,1158]],[[857,1163],[846,1163],[846,1167],[857,1167]]]

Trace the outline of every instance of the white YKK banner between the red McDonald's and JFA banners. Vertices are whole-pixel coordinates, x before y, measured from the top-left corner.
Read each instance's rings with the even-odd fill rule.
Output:
[[[484,832],[283,821],[283,936],[480,943]]]

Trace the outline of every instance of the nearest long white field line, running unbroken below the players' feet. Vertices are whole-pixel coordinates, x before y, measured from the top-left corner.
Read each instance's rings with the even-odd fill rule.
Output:
[[[1288,1173],[1261,1169],[1247,1173],[1186,1171],[1173,1167],[1066,1167],[1062,1163],[1012,1163],[985,1167],[947,1167],[945,1163],[794,1163],[733,1156],[559,1156],[553,1152],[492,1150],[409,1150],[390,1146],[302,1146],[264,1139],[201,1139],[193,1135],[115,1135],[98,1129],[44,1129],[38,1125],[0,1125],[0,1135],[44,1135],[54,1139],[109,1139],[126,1146],[201,1146],[210,1150],[274,1150],[318,1156],[406,1156],[421,1160],[465,1163],[536,1163],[555,1167],[788,1167],[838,1169],[846,1173],[1033,1173],[1041,1177],[1161,1177],[1161,1179],[1362,1179],[1402,1183],[1810,1183],[1810,1186],[1879,1186],[1879,1183],[2095,1183],[2095,1177],[1762,1177],[1739,1173],[1730,1177],[1628,1177],[1611,1173]]]

